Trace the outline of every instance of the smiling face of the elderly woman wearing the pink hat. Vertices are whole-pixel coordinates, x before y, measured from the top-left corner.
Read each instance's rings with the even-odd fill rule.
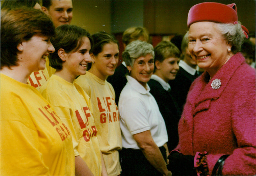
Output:
[[[222,37],[216,23],[201,21],[191,24],[188,50],[200,68],[216,72],[232,56],[231,45]]]

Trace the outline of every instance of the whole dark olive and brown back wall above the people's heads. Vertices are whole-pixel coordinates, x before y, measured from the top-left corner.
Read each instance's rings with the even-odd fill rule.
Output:
[[[238,20],[249,30],[250,34],[255,34],[255,0],[210,1],[222,4],[236,3]],[[161,40],[169,40],[175,34],[185,34],[188,30],[189,9],[202,2],[207,1],[73,0],[74,10],[71,24],[83,27],[91,34],[105,31],[115,35],[120,42],[119,50],[122,53],[124,50],[121,42],[122,34],[128,27],[146,27],[150,32],[150,42],[156,46]],[[40,3],[42,4],[41,1]]]

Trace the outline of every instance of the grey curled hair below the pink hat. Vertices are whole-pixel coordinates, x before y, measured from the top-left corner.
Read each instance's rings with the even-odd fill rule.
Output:
[[[231,51],[236,54],[241,50],[241,46],[244,42],[244,32],[241,25],[238,24],[226,24],[226,23],[216,23],[216,27],[222,34],[223,38],[232,44]]]

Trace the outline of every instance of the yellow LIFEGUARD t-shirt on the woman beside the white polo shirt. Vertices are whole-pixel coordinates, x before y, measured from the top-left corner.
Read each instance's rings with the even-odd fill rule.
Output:
[[[122,149],[122,138],[115,91],[109,82],[90,72],[80,75],[75,83],[91,98],[93,117],[99,130],[97,137],[107,172],[109,176],[117,176],[121,172],[118,150]]]

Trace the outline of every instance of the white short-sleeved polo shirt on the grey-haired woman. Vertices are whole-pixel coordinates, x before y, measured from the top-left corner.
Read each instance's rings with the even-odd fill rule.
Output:
[[[118,103],[120,127],[124,148],[140,149],[133,134],[150,130],[158,147],[168,141],[164,119],[155,98],[134,78],[127,76],[127,84],[122,90]]]

